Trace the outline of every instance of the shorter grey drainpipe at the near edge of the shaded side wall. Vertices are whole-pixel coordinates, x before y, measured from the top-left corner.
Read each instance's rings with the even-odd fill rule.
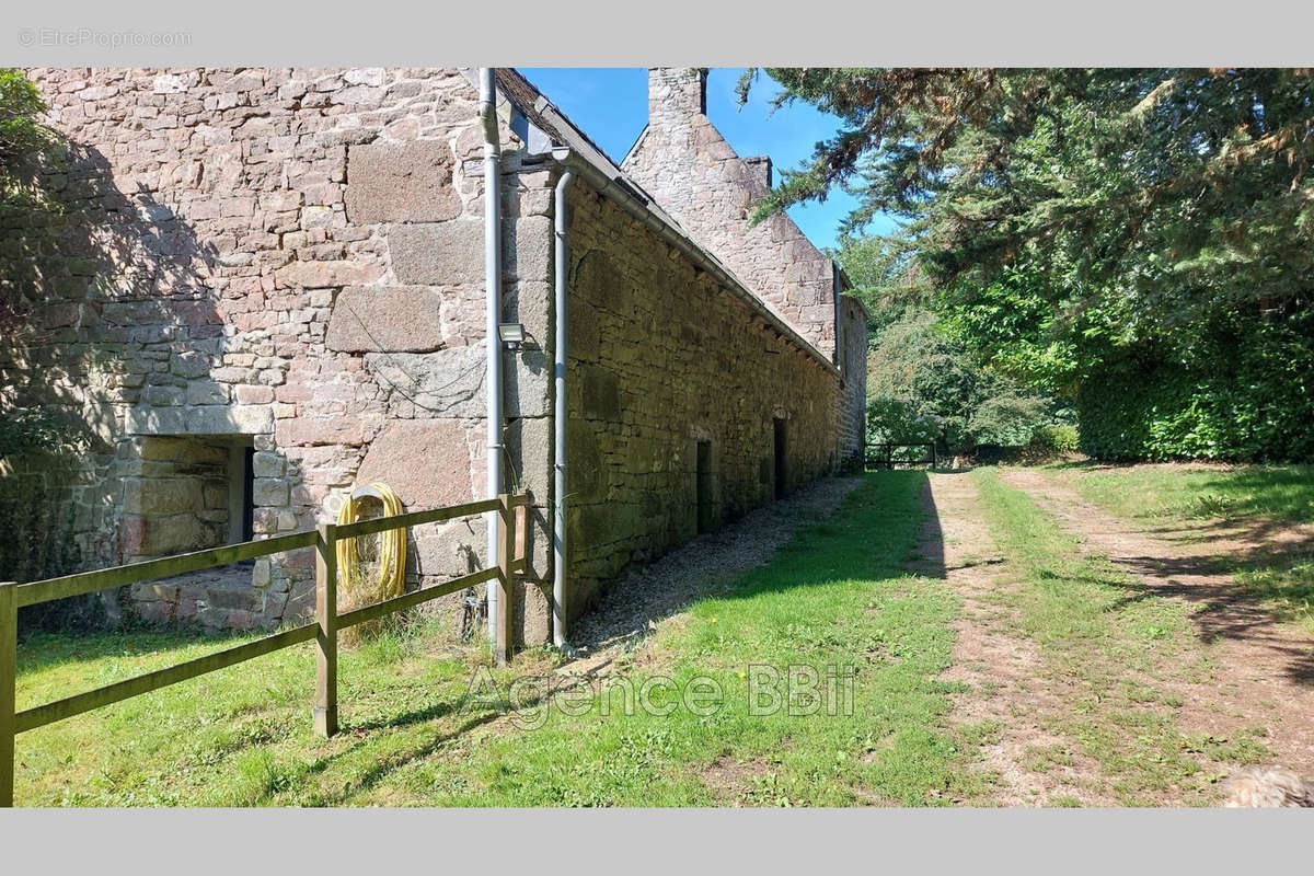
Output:
[[[553,345],[552,373],[556,405],[553,408],[553,515],[552,515],[552,644],[566,646],[566,276],[569,250],[566,248],[566,186],[574,173],[566,169],[557,180],[556,189],[556,343]]]

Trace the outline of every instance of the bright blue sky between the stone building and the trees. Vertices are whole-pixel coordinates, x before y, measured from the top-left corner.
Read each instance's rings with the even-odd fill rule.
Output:
[[[648,123],[648,70],[644,67],[518,67],[618,164]],[[707,114],[741,156],[770,155],[777,172],[812,156],[817,141],[830,137],[838,120],[804,104],[771,113],[779,87],[762,74],[740,108],[735,84],[740,68],[714,67],[707,77]],[[819,247],[833,247],[840,219],[855,201],[844,192],[824,204],[790,209],[790,217]]]

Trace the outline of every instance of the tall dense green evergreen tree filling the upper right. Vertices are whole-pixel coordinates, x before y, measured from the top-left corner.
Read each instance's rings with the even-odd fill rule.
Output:
[[[841,129],[759,211],[838,186],[850,235],[903,218],[880,243],[896,285],[1113,422],[1088,449],[1314,456],[1310,71],[767,72]],[[1113,403],[1147,381],[1172,386]]]

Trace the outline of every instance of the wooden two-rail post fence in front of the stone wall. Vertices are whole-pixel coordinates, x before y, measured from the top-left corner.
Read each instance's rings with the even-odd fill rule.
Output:
[[[330,737],[338,732],[338,630],[413,608],[444,594],[456,592],[493,579],[497,579],[499,587],[497,617],[494,619],[494,629],[497,632],[494,658],[499,665],[505,665],[511,657],[511,577],[516,573],[523,573],[526,569],[526,542],[530,529],[527,515],[531,503],[532,496],[530,493],[518,495],[502,494],[497,499],[484,499],[481,502],[468,502],[445,508],[431,508],[428,511],[414,511],[389,517],[377,517],[374,520],[361,520],[340,527],[326,523],[314,531],[294,532],[260,541],[244,541],[225,548],[197,550],[194,553],[148,559],[127,566],[114,566],[112,569],[84,571],[62,578],[34,580],[26,584],[0,583],[0,806],[13,805],[14,737],[17,734],[311,640],[317,644],[314,729],[315,733]],[[422,587],[420,590],[414,590],[381,603],[356,608],[342,615],[338,613],[336,542],[339,538],[355,538],[376,532],[418,527],[426,523],[468,517],[490,511],[498,514],[499,550],[495,566],[489,566],[487,569],[481,569],[480,571],[440,584]],[[154,672],[114,682],[93,691],[55,700],[54,703],[35,705],[21,712],[14,711],[18,608],[46,603],[53,599],[81,596],[97,590],[122,587],[154,578],[181,575],[189,571],[225,566],[243,559],[268,557],[301,548],[315,549],[314,623],[293,626],[272,636],[226,647],[213,654],[187,661],[185,663],[155,670]]]

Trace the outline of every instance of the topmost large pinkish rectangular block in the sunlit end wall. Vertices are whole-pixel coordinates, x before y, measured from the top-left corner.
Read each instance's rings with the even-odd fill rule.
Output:
[[[351,222],[440,222],[461,213],[447,143],[368,143],[347,147]]]

